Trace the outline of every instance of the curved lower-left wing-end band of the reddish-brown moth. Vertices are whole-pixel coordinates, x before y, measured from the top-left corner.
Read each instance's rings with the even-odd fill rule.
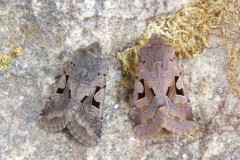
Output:
[[[134,128],[134,134],[139,139],[145,139],[159,133],[164,127],[167,108],[160,108],[155,118],[147,124],[138,125]]]

